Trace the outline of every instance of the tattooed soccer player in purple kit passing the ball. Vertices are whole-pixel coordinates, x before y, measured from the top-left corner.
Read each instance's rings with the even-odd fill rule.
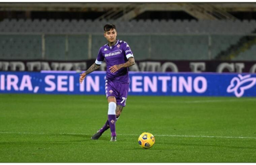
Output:
[[[129,91],[129,66],[135,64],[134,57],[129,45],[125,41],[117,40],[116,26],[107,24],[104,26],[104,37],[108,43],[100,47],[95,63],[84,73],[80,74],[80,84],[86,75],[95,71],[105,59],[107,75],[105,92],[108,101],[108,120],[91,139],[97,140],[104,131],[110,128],[111,140],[116,141],[116,121],[125,107]]]

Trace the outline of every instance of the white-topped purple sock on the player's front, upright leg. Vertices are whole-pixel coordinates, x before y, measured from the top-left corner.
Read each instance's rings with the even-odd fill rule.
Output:
[[[111,131],[111,136],[116,136],[116,107],[115,102],[108,103],[107,119]]]

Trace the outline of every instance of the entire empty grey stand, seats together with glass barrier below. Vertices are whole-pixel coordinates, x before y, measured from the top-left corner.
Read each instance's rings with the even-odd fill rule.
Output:
[[[216,59],[230,47],[232,48],[232,45],[236,45],[244,35],[256,29],[255,20],[4,19],[0,22],[1,58],[41,59],[42,34],[45,34],[44,59],[83,60],[90,58],[88,55],[89,35],[92,35],[91,58],[95,58],[99,46],[106,43],[102,39],[102,26],[106,23],[113,23],[117,26],[118,38],[129,43],[138,60],[149,58]],[[10,35],[7,37],[4,33],[10,33]],[[20,33],[27,33],[29,36],[22,39]],[[10,49],[11,47],[15,49]],[[28,49],[29,51],[26,51]],[[252,47],[247,53],[242,54],[249,57],[247,54],[251,54],[254,50]],[[242,54],[235,56],[234,59],[243,59]]]

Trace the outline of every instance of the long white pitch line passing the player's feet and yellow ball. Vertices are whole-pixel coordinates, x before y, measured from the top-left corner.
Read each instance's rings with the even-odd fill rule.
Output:
[[[92,135],[88,133],[33,133],[33,132],[0,132],[0,134],[52,134],[52,135]],[[139,136],[137,134],[118,134],[121,136]],[[154,135],[154,136],[170,136],[170,137],[208,137],[208,138],[239,138],[239,139],[256,139],[256,137],[235,137],[235,136],[204,136],[204,135]]]

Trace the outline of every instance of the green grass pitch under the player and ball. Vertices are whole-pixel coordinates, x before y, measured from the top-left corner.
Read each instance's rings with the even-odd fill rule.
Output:
[[[256,98],[128,96],[107,130],[105,96],[0,94],[0,162],[256,162]],[[155,135],[145,150],[142,132]]]

